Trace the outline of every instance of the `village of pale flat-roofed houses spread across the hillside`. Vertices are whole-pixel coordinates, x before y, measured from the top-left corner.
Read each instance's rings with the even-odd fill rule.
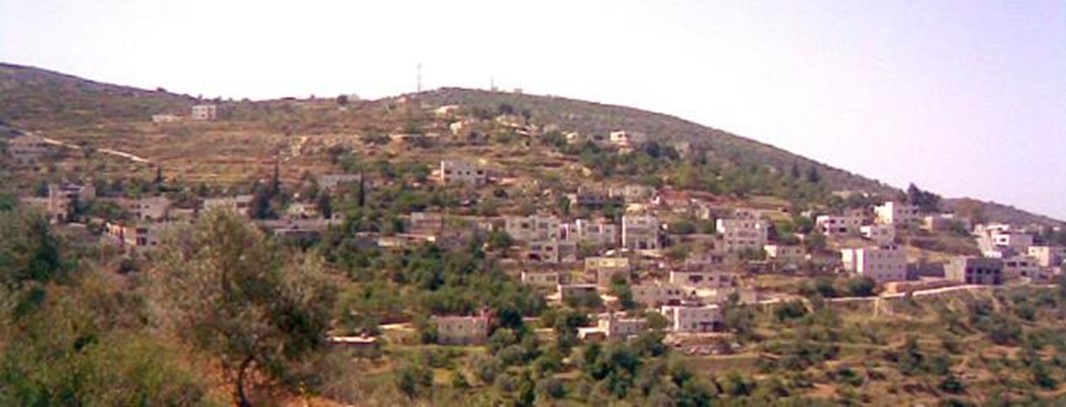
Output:
[[[345,98],[337,109],[346,104]],[[479,242],[507,275],[543,294],[549,306],[588,310],[589,323],[578,327],[580,340],[635,337],[650,329],[650,310],[665,321],[665,340],[688,344],[689,352],[698,352],[700,338],[714,341],[727,330],[727,304],[803,298],[802,290],[815,280],[822,286],[829,281],[830,287],[814,290],[831,291],[830,300],[844,302],[1044,284],[1063,273],[1066,247],[1046,239],[1061,230],[944,213],[937,209],[938,197],[915,188],[894,196],[838,191],[833,192],[837,202],[846,205],[796,211],[781,199],[760,202],[669,182],[591,177],[594,169],[588,167],[574,169],[575,182],[548,183],[514,167],[524,165],[515,160],[449,151],[489,146],[505,136],[505,143],[549,145],[555,154],[585,145],[623,160],[639,153],[690,160],[697,152],[683,143],[661,145],[626,129],[581,134],[551,124],[537,126],[528,111],[504,105],[498,112],[462,105],[416,109],[432,117],[429,128],[390,133],[384,140],[364,136],[357,139],[364,146],[350,143],[344,150],[318,146],[337,150],[335,158],[357,157],[360,149],[442,151],[445,158],[408,165],[401,176],[395,175],[399,168],[341,163],[334,172],[305,172],[295,182],[286,182],[279,173],[289,172],[287,167],[295,165],[291,160],[314,148],[302,137],[278,151],[273,174],[259,174],[243,193],[192,191],[190,185],[182,190],[164,173],[169,168],[156,166],[156,179],[139,185],[64,174],[65,181],[42,182],[20,199],[47,213],[55,225],[80,228],[83,240],[114,245],[132,257],[151,257],[167,230],[208,211],[230,211],[297,246],[335,239],[330,235],[341,230],[352,233],[356,247],[385,251],[421,245],[467,250],[469,242]],[[188,114],[160,112],[145,120],[150,119],[150,126],[196,126],[225,117],[224,107],[198,104]],[[534,142],[538,139],[550,140]],[[79,148],[86,147],[19,132],[5,151],[15,172],[34,174],[54,167],[54,160]],[[817,174],[791,177],[818,182]],[[358,225],[366,219],[350,216],[365,216],[367,200],[377,190],[432,190],[437,195],[432,202],[385,202],[392,206],[384,215],[388,218],[372,227]],[[844,281],[838,283],[842,289],[831,287],[835,280]],[[486,309],[432,315],[433,340],[485,344],[494,318]],[[386,320],[392,321],[392,328],[409,328],[411,322],[399,315]],[[336,341],[358,338],[357,343],[369,344],[371,332],[381,331],[339,333]]]

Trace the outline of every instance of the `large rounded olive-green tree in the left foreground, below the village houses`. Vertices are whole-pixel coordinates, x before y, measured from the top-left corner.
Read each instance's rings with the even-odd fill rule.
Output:
[[[313,258],[282,263],[262,231],[224,211],[172,234],[151,276],[160,316],[219,358],[240,405],[249,405],[251,377],[306,382],[300,367],[326,344],[333,307]]]

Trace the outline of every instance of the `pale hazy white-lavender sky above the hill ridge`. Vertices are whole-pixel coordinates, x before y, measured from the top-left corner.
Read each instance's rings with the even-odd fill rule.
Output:
[[[0,0],[0,61],[204,95],[505,88],[1066,218],[1066,2]]]

